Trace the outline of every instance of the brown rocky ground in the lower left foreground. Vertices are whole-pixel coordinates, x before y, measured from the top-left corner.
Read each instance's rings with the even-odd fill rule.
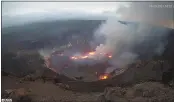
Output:
[[[79,93],[63,84],[42,80],[19,82],[16,78],[2,78],[2,98],[13,102],[96,102],[100,93]]]

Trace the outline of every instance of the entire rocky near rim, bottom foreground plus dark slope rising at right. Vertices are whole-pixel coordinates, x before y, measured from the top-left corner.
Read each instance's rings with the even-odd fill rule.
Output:
[[[13,102],[174,102],[173,82],[170,87],[160,83],[170,67],[166,61],[140,61],[114,78],[95,82],[75,81],[51,70],[22,78],[3,73],[2,98]]]

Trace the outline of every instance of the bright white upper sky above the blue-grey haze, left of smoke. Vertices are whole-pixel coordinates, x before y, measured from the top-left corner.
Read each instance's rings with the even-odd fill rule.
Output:
[[[116,11],[119,2],[4,2],[2,15],[23,15],[34,12],[85,12],[103,13]]]

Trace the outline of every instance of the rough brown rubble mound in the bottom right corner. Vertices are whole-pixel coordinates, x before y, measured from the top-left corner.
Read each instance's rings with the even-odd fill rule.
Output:
[[[98,102],[173,102],[174,90],[156,82],[146,82],[129,88],[106,88]]]

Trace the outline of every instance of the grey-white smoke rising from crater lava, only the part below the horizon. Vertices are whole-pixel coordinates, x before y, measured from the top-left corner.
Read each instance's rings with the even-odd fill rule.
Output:
[[[123,68],[139,58],[162,54],[168,31],[167,28],[108,19],[94,34],[97,41],[105,38],[104,43],[96,47],[96,53],[111,52],[110,63],[115,68]]]

